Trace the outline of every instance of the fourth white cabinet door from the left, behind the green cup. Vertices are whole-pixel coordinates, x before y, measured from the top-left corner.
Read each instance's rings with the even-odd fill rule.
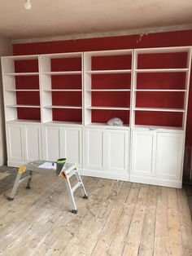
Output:
[[[68,162],[82,167],[82,128],[60,128],[60,157],[67,157]]]

